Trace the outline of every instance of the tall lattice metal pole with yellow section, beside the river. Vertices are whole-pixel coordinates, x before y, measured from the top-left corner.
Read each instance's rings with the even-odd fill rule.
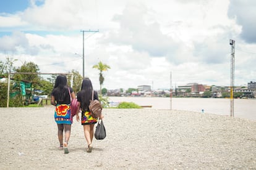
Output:
[[[229,39],[229,45],[231,45],[231,66],[230,66],[230,116],[234,117],[234,51],[235,41]]]

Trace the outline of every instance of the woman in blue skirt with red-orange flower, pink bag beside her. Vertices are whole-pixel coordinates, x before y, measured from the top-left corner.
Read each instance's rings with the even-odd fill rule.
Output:
[[[67,86],[67,77],[65,75],[57,76],[53,91],[51,92],[51,104],[56,106],[54,111],[54,119],[58,125],[59,148],[62,149],[64,147],[64,153],[69,153],[67,144],[69,143],[71,124],[73,123],[70,112],[69,91],[72,99],[75,99],[73,89]],[[65,131],[64,143],[63,130]]]

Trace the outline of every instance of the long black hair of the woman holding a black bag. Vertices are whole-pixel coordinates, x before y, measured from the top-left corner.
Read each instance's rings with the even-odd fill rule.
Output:
[[[92,100],[92,81],[89,78],[84,78],[81,86],[81,91],[79,92],[81,97],[81,108],[86,110],[90,104],[90,100]]]

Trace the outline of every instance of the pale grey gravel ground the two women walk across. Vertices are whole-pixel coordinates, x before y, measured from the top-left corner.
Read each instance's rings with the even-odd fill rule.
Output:
[[[0,169],[256,169],[256,121],[179,110],[104,109],[107,136],[86,152],[72,124],[59,150],[54,107],[0,108]]]

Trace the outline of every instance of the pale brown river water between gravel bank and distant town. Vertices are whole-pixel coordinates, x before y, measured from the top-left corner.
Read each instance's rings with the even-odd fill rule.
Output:
[[[134,102],[154,109],[172,109],[230,115],[230,99],[168,98],[168,97],[109,97],[109,102]],[[202,111],[203,110],[203,111]],[[256,120],[256,99],[234,99],[234,117]]]

